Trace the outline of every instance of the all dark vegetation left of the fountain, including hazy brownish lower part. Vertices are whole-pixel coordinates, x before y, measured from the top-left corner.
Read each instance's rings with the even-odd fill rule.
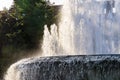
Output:
[[[0,77],[13,62],[38,49],[44,25],[57,24],[58,16],[58,7],[44,0],[14,0],[10,10],[0,12]]]

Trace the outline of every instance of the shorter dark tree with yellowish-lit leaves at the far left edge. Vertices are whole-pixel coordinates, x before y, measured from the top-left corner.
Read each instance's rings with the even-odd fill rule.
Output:
[[[22,23],[14,16],[14,11],[3,11],[0,17],[0,44],[1,46],[18,46],[20,34],[22,33]],[[21,42],[21,41],[20,41]],[[20,43],[19,43],[20,44]]]

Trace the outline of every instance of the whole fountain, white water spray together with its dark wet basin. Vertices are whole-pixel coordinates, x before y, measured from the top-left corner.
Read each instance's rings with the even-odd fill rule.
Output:
[[[118,0],[65,0],[59,26],[45,26],[42,57],[12,64],[5,80],[119,80],[119,8]]]

